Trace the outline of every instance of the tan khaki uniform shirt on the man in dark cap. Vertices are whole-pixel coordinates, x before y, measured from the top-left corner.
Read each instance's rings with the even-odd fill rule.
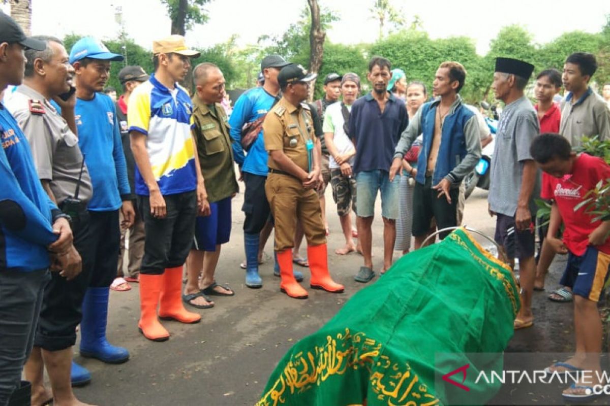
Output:
[[[295,107],[282,97],[267,113],[263,122],[265,150],[283,150],[290,160],[307,172],[309,170],[307,139],[315,143],[314,125],[312,123],[309,106],[301,103],[300,106]],[[269,156],[267,162],[271,169],[281,170],[271,159],[271,156]],[[313,164],[312,162],[312,166]]]

